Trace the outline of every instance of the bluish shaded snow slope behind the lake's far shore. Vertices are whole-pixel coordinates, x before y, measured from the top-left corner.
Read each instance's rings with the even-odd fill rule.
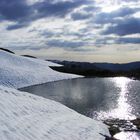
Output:
[[[17,56],[0,50],[0,85],[20,88],[45,82],[79,77],[56,72],[55,63]]]

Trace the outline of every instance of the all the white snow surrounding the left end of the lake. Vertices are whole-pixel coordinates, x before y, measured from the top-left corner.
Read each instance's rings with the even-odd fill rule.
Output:
[[[56,72],[55,63],[0,51],[1,140],[104,140],[102,122],[16,88],[79,76]]]

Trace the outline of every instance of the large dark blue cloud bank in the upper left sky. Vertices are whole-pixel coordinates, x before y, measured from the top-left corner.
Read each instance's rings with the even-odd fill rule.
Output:
[[[44,0],[28,5],[26,0],[0,0],[0,20],[16,22],[15,25],[7,27],[8,30],[14,30],[27,26],[30,22],[40,18],[64,17],[74,8],[86,3],[88,0],[57,2]]]

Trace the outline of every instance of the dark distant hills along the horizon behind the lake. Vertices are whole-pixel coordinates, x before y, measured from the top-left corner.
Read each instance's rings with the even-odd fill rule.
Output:
[[[88,63],[59,60],[53,60],[52,62],[63,65],[61,67],[51,67],[60,72],[95,77],[126,76],[140,78],[140,62],[126,64]]]

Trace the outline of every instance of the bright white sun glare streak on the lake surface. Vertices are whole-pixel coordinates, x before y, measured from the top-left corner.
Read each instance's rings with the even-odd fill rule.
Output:
[[[117,100],[117,107],[115,109],[110,109],[107,112],[105,111],[97,112],[97,116],[100,119],[108,119],[108,118],[134,119],[136,118],[132,114],[132,107],[128,104],[128,101],[127,101],[127,96],[129,94],[127,86],[129,82],[132,80],[125,77],[117,77],[111,80],[120,89],[119,98]]]

